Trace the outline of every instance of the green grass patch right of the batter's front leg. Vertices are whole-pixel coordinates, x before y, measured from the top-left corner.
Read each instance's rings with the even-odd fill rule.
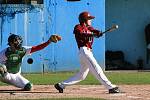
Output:
[[[115,84],[150,84],[150,72],[110,72],[106,74]]]

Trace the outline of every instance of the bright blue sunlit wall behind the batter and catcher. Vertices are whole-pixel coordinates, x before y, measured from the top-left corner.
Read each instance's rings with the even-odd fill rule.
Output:
[[[7,7],[4,7],[6,5]],[[61,42],[50,44],[47,48],[26,56],[22,64],[22,71],[25,73],[69,71],[80,67],[78,48],[73,35],[73,28],[78,23],[80,12],[89,11],[96,17],[93,20],[93,26],[101,30],[105,28],[105,0],[77,2],[45,0],[43,4],[1,4],[0,7],[10,11],[26,7],[25,11],[17,11],[12,14],[1,10],[3,13],[0,16],[1,49],[7,47],[7,38],[10,32],[21,35],[24,40],[23,44],[28,46],[43,43],[54,33],[62,36]],[[95,58],[103,69],[105,67],[104,44],[105,36],[96,39],[93,46]],[[32,64],[28,64],[29,58],[33,59]]]

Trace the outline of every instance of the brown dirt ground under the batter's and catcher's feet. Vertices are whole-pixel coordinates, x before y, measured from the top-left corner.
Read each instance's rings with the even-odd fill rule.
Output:
[[[106,100],[150,100],[150,85],[119,85],[125,93],[108,94],[102,85],[74,85],[64,93],[52,85],[34,85],[32,91],[20,91],[13,86],[0,86],[0,99],[43,99],[43,98],[104,98]]]

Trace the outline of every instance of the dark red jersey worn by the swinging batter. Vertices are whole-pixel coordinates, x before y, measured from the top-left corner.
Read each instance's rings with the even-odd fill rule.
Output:
[[[77,24],[74,27],[74,34],[78,48],[85,46],[92,49],[92,44],[94,41],[93,33],[99,32],[99,30],[94,29],[92,26],[86,26],[85,24]]]

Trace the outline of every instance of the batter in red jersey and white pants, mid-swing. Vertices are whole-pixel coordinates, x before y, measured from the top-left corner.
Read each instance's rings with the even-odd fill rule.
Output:
[[[61,83],[55,84],[59,93],[63,93],[66,86],[76,84],[86,78],[89,71],[109,90],[109,93],[119,93],[119,88],[113,85],[103,73],[103,70],[95,60],[92,53],[94,38],[99,38],[102,33],[91,26],[91,19],[94,19],[89,12],[82,12],[79,15],[79,24],[74,28],[75,39],[79,48],[81,68],[73,77]]]

